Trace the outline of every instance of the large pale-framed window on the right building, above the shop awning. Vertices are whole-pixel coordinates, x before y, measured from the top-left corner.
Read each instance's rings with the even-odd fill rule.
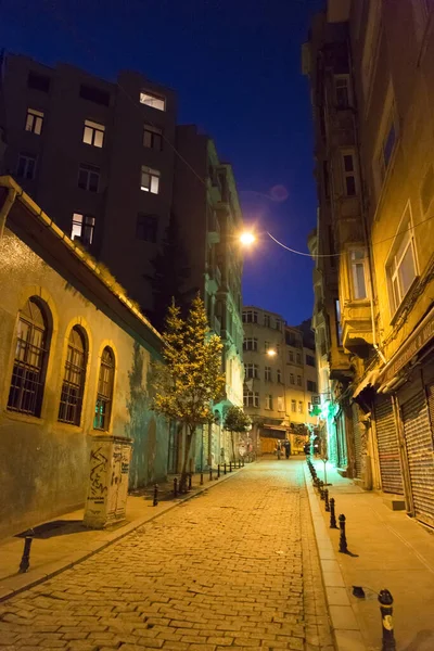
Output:
[[[417,277],[414,239],[410,230],[409,217],[399,228],[403,232],[397,239],[386,265],[387,282],[394,314],[404,301]]]

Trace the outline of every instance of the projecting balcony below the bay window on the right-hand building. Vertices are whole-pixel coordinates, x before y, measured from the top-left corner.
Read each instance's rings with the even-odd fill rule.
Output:
[[[344,347],[362,359],[369,357],[373,345],[370,302],[345,303],[341,321]]]

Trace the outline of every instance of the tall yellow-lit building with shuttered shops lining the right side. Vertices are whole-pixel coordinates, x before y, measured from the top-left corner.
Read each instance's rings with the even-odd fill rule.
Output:
[[[329,0],[303,50],[331,459],[434,525],[434,7]],[[329,257],[323,257],[329,256]]]

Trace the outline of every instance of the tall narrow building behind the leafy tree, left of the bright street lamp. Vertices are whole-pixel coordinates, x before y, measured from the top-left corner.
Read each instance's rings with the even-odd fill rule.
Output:
[[[173,209],[190,259],[184,289],[201,292],[209,326],[224,343],[225,396],[215,405],[216,423],[204,441],[206,461],[216,464],[231,458],[225,413],[243,404],[243,258],[238,239],[243,219],[232,168],[219,159],[214,141],[186,125],[177,127],[176,146]]]

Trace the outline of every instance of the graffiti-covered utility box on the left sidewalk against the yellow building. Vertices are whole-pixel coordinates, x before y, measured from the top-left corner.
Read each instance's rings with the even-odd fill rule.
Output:
[[[131,438],[92,436],[85,526],[104,528],[125,520]]]

